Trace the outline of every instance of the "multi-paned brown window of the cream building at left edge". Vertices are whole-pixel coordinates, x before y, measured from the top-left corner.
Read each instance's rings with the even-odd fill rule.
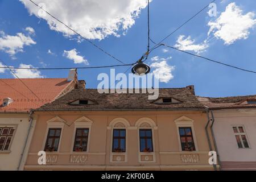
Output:
[[[9,150],[14,130],[13,127],[0,127],[0,151]]]

